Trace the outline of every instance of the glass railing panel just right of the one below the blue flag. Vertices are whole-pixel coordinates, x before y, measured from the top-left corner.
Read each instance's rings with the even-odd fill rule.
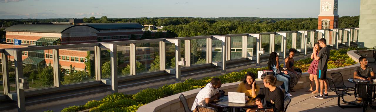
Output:
[[[111,66],[111,63],[107,64]],[[94,47],[59,49],[59,68],[62,85],[93,81],[95,79]],[[102,74],[110,77],[111,68],[103,70],[105,72]]]

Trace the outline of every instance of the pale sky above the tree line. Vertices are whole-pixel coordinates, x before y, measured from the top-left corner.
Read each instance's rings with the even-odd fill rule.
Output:
[[[360,0],[338,0],[338,15],[358,16]],[[317,18],[320,0],[0,0],[0,19],[260,17]]]

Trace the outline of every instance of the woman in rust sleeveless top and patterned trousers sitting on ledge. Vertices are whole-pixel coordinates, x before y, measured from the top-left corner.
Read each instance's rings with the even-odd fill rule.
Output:
[[[293,59],[293,57],[294,57],[294,55],[295,55],[295,52],[296,52],[296,49],[294,49],[294,48],[290,48],[289,50],[288,50],[288,52],[290,53],[289,54],[289,56],[288,57],[286,57],[286,59],[285,59],[285,68],[287,68],[287,74],[288,75],[290,75],[290,77],[291,77],[291,80],[290,80],[290,88],[289,88],[289,90],[291,91],[291,92],[295,92],[294,90],[293,90],[293,88],[294,88],[294,86],[298,83],[298,81],[299,81],[299,79],[300,79],[300,77],[302,76],[302,73],[300,73],[300,72],[296,72],[294,69],[295,69],[295,67],[294,67],[294,59]]]

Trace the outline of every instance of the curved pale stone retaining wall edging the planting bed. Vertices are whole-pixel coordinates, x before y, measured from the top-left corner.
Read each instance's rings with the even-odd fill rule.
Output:
[[[359,50],[359,53],[361,54],[365,52],[367,52],[367,50]],[[368,53],[368,55],[370,54],[371,53]],[[357,60],[360,57],[359,55],[357,55],[356,50],[347,52],[347,55],[349,55],[349,57],[351,57],[356,62],[358,62]],[[327,71],[327,77],[331,78],[331,75],[330,75],[331,73],[340,72],[343,75],[344,81],[346,81],[347,79],[353,77],[354,69],[356,66],[359,66],[359,63],[355,65],[341,67],[341,68],[329,69]],[[240,82],[222,84],[222,87],[220,89],[226,91],[226,94],[227,94],[228,91],[236,91],[239,83]],[[262,80],[256,80],[256,84],[258,84],[260,87],[263,86]],[[280,84],[282,84],[282,82],[277,83],[277,85],[280,85]],[[307,72],[304,72],[302,74],[302,77],[300,77],[298,84],[294,87],[294,89],[297,90],[301,88],[307,88],[309,87],[309,84],[310,84],[309,74]],[[153,102],[150,102],[146,105],[141,106],[140,108],[138,108],[137,112],[184,112],[183,105],[179,100],[180,94],[184,94],[188,102],[188,107],[191,108],[193,105],[194,99],[196,98],[196,95],[199,91],[200,91],[200,88],[197,88],[194,90],[185,91],[182,93],[174,94],[168,97],[164,97],[162,99],[155,100]]]

